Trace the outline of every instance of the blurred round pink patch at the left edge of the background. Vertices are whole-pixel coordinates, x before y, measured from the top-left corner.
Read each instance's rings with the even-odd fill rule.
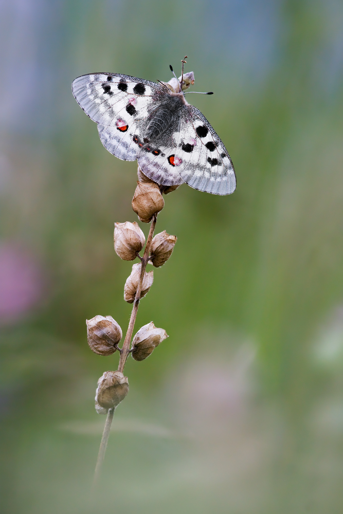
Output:
[[[17,321],[42,295],[38,262],[19,245],[0,245],[0,323]]]

